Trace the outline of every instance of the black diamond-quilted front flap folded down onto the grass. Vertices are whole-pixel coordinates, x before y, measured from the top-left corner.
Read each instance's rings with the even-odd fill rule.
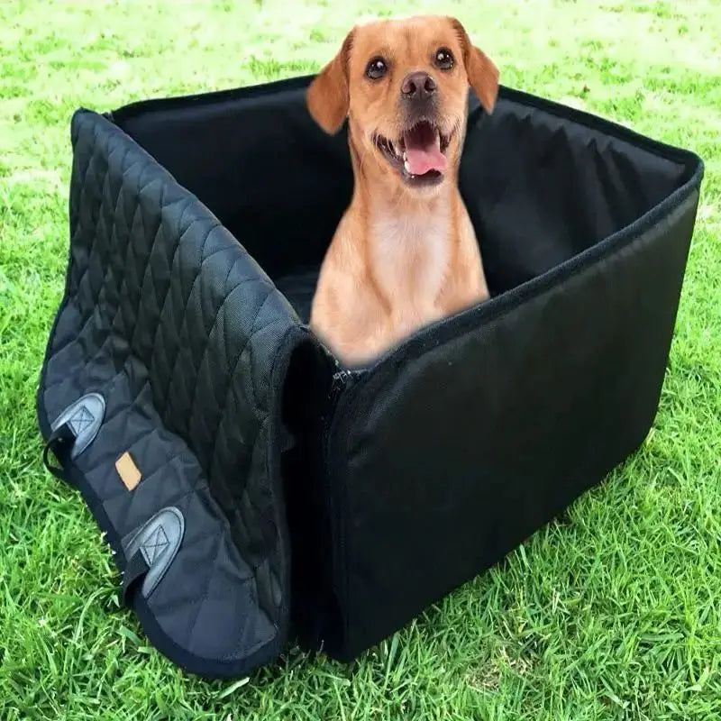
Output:
[[[161,507],[185,516],[177,558],[135,599],[146,633],[191,671],[243,673],[274,658],[287,630],[278,395],[303,331],[233,235],[113,123],[78,111],[72,142],[70,262],[39,389],[43,434],[78,397],[105,397],[70,475],[111,541]],[[142,473],[132,492],[114,470],[125,451]]]

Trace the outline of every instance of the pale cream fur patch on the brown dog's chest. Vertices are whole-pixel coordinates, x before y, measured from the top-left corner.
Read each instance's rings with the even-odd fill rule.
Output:
[[[380,214],[371,233],[374,274],[394,315],[427,314],[450,260],[450,214]]]

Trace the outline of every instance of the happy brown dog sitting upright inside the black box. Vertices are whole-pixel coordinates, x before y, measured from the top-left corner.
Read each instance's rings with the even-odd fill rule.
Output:
[[[451,17],[356,25],[306,100],[329,133],[348,118],[355,174],[311,327],[355,365],[488,297],[458,190],[468,88],[490,113],[498,71]]]

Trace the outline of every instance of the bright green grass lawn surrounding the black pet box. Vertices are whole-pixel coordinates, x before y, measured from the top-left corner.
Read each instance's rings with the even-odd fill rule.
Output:
[[[207,683],[118,608],[95,523],[41,468],[70,114],[305,73],[391,5],[448,10],[507,85],[706,160],[661,409],[562,521],[358,662],[290,649]],[[720,47],[718,0],[0,3],[0,719],[721,717]]]

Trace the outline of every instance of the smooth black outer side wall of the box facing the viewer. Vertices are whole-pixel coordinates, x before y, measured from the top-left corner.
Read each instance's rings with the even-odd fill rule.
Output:
[[[333,434],[351,658],[499,561],[634,451],[656,413],[698,204],[348,392]],[[458,328],[458,324],[456,324]]]

